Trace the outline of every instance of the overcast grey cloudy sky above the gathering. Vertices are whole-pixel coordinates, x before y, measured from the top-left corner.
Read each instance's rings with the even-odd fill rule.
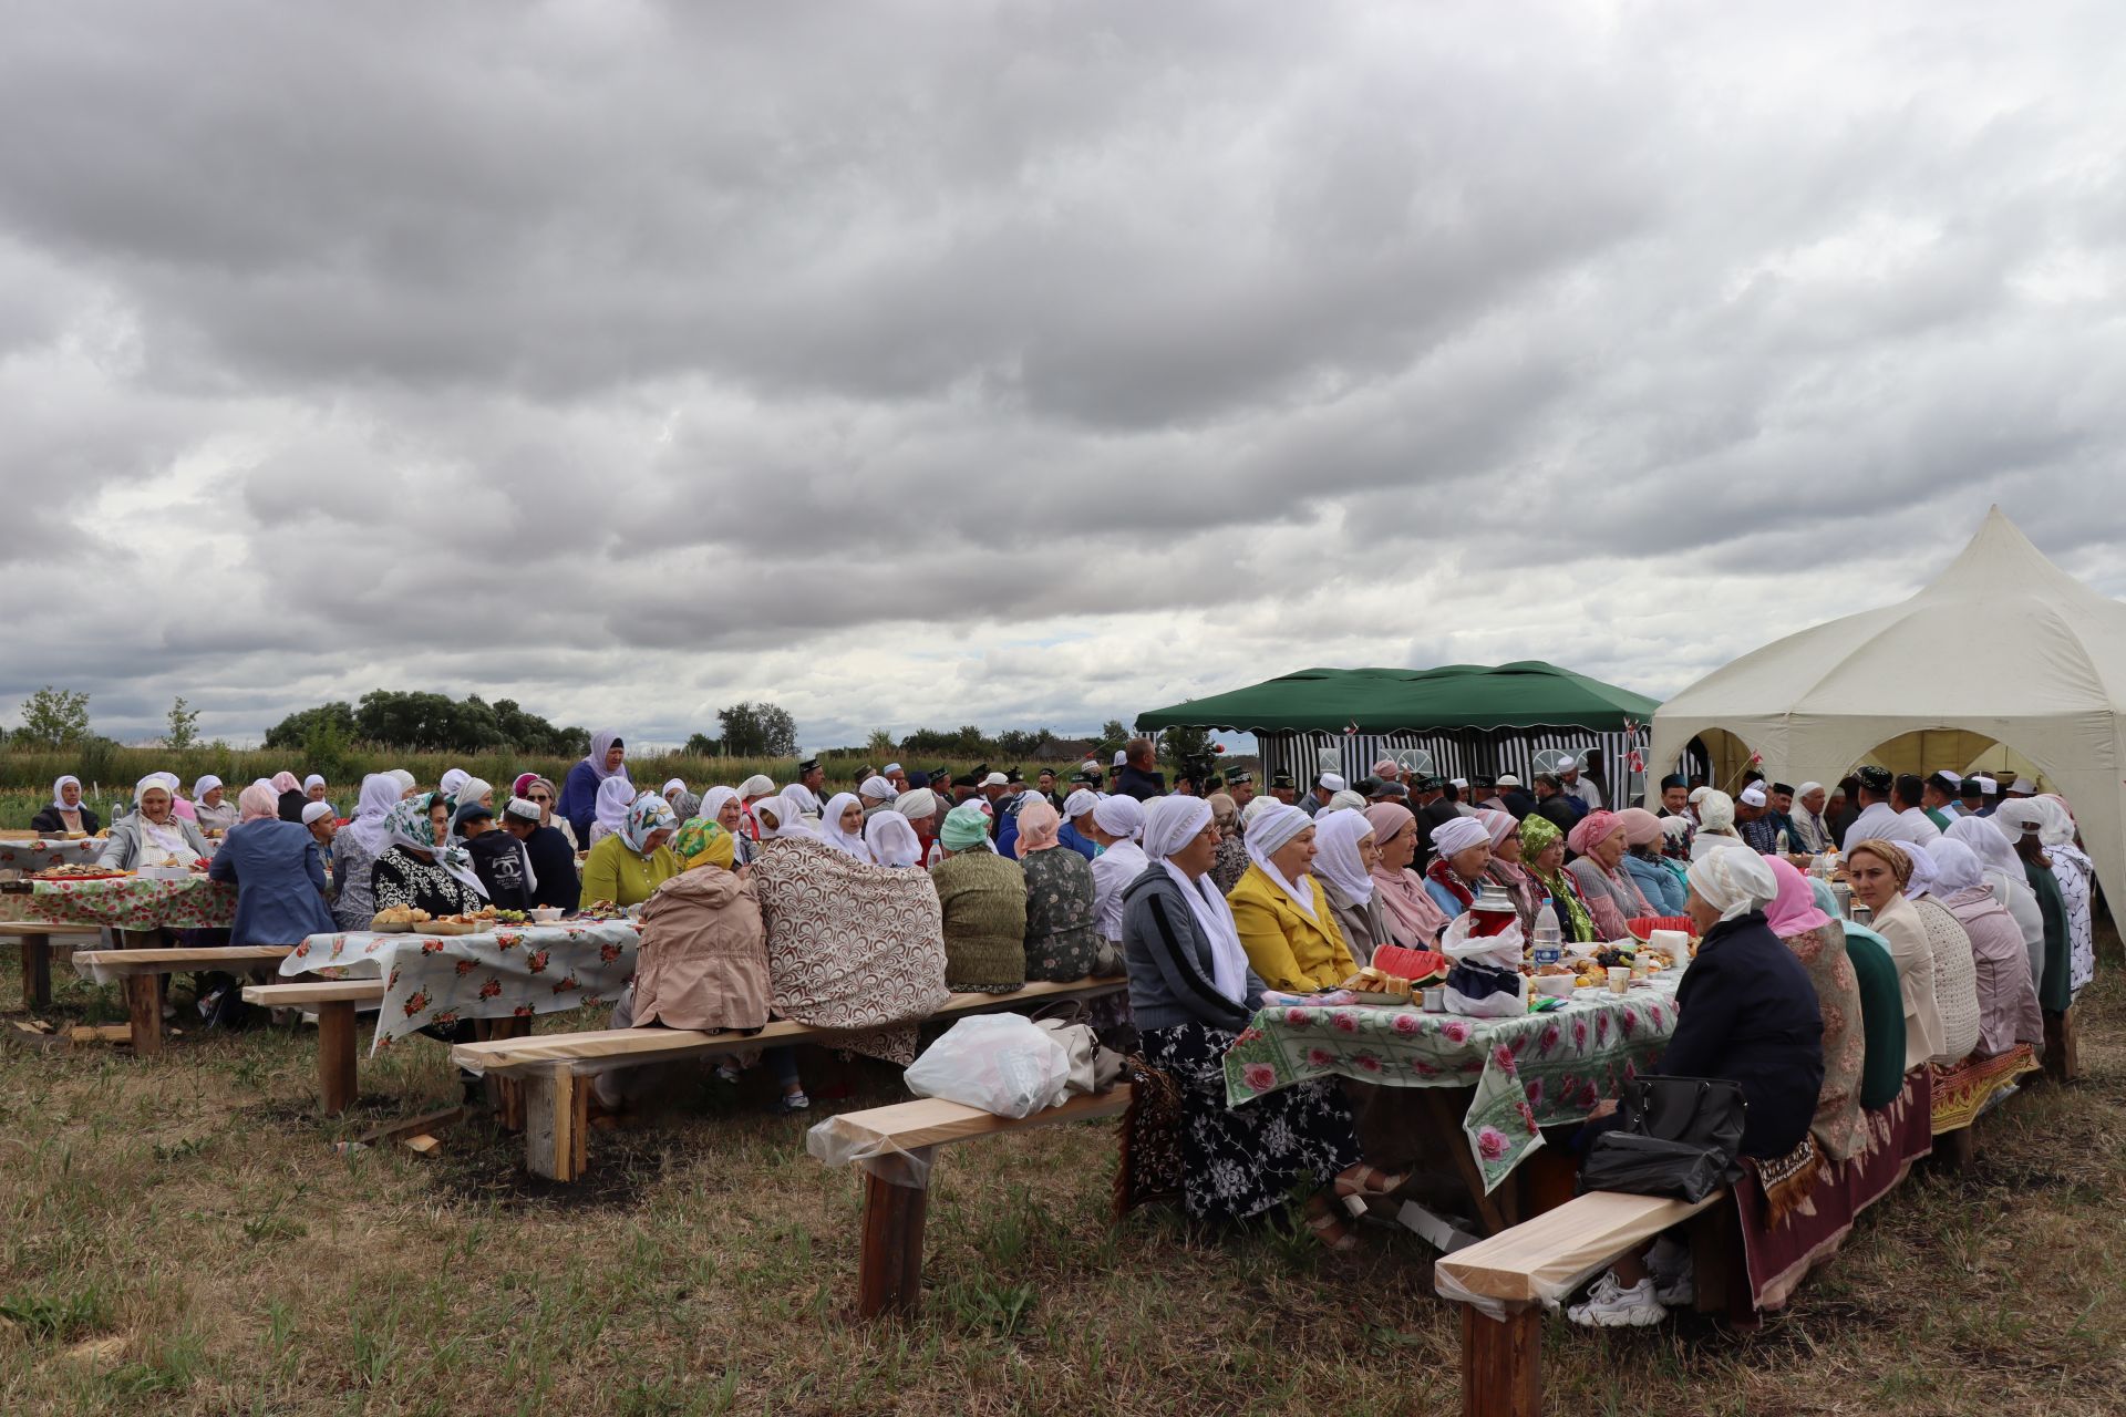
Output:
[[[2126,593],[2105,2],[11,6],[0,716],[1665,695]]]

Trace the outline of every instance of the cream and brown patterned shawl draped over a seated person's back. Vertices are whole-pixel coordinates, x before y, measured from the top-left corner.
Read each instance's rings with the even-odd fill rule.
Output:
[[[944,914],[929,873],[870,867],[823,841],[761,843],[753,865],[776,1018],[846,1028],[846,1045],[912,1062],[944,986]]]

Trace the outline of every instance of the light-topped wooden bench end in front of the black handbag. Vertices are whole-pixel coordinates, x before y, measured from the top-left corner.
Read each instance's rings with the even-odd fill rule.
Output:
[[[1594,1270],[1671,1226],[1694,1224],[1690,1258],[1699,1307],[1724,1307],[1731,1243],[1718,1230],[1728,1194],[1697,1205],[1660,1196],[1590,1192],[1488,1241],[1441,1256],[1433,1285],[1503,1309],[1497,1319],[1463,1300],[1463,1417],[1539,1417],[1543,1411],[1543,1300],[1560,1300]]]

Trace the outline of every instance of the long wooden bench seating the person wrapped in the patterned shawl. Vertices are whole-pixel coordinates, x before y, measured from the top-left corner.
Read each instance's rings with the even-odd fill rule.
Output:
[[[1072,979],[1069,984],[1029,984],[1016,994],[950,994],[931,1018],[991,1013],[1025,1005],[1063,1003],[1118,994],[1127,979]],[[591,1090],[583,1086],[580,1064],[642,1066],[714,1058],[795,1043],[842,1047],[848,1030],[814,1028],[776,1020],[759,1032],[697,1032],[691,1028],[602,1028],[595,1032],[549,1032],[523,1039],[491,1039],[457,1043],[451,1062],[468,1073],[521,1077],[525,1094],[525,1166],[551,1181],[574,1181],[587,1166]]]

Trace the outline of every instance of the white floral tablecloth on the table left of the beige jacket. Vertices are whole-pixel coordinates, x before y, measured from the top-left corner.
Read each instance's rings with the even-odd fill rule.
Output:
[[[480,935],[310,935],[283,975],[383,977],[374,1049],[432,1024],[610,1005],[636,977],[634,920],[502,926]]]

